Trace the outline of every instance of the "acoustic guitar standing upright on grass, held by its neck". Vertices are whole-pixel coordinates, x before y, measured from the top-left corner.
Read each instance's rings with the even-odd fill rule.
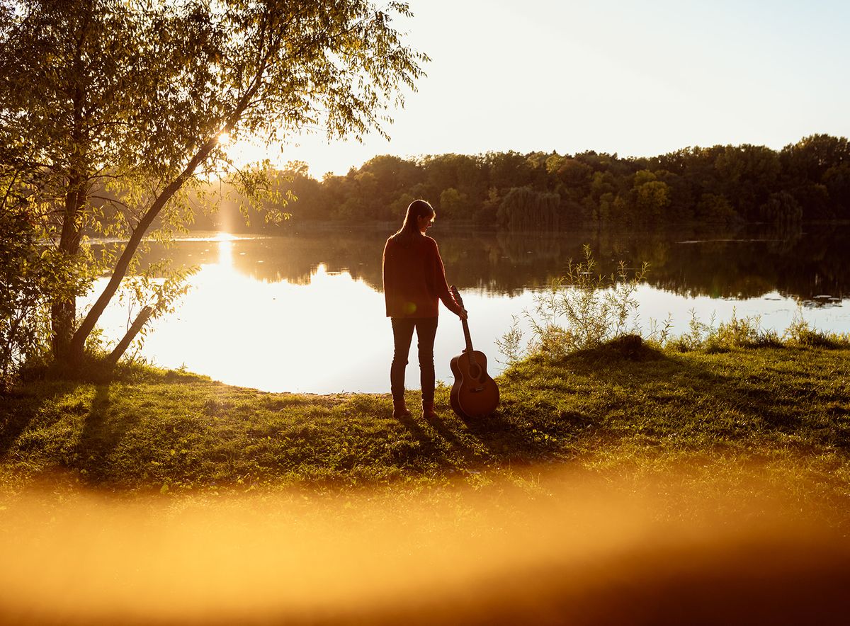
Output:
[[[451,295],[462,307],[461,294],[455,285],[451,285]],[[499,406],[499,387],[487,374],[487,357],[484,352],[473,350],[467,320],[462,319],[461,322],[467,347],[451,359],[451,373],[455,375],[455,384],[451,386],[449,394],[451,409],[459,417],[484,417]]]

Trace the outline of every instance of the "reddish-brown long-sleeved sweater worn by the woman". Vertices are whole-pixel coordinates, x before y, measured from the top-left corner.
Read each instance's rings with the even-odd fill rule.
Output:
[[[439,303],[460,313],[445,282],[437,242],[415,236],[405,246],[390,237],[383,248],[383,295],[388,318],[435,318]]]

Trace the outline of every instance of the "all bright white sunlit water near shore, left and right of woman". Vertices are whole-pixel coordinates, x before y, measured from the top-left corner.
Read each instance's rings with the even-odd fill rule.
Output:
[[[280,268],[288,266],[280,263],[290,262],[290,257],[272,267],[268,255],[290,244],[291,240],[226,233],[184,243],[195,246],[185,262],[200,262],[201,269],[190,278],[192,289],[177,313],[156,320],[141,356],[163,367],[184,366],[218,381],[265,391],[388,392],[392,330],[375,279],[371,284],[355,279],[344,268],[331,272],[325,263],[313,265],[303,279],[286,279],[292,268],[289,274],[281,274]],[[447,262],[450,279],[452,269]],[[529,324],[522,317],[524,311],[533,311],[534,295],[530,289],[507,293],[490,291],[490,287],[462,289],[473,346],[487,355],[491,375],[503,369],[498,361],[504,357],[496,340],[509,330],[513,316],[519,316],[528,336]],[[780,333],[800,313],[821,330],[850,330],[850,309],[842,302],[801,308],[775,291],[736,300],[683,296],[642,285],[637,298],[638,322],[644,332],[650,320],[661,323],[672,315],[673,333],[683,333],[688,330],[691,309],[706,323],[712,313],[718,322],[728,321],[733,314],[739,318],[760,315],[762,328]],[[127,310],[120,305],[108,308],[101,319],[106,338],[116,341],[122,336],[127,319]],[[462,325],[440,305],[434,345],[438,381],[451,385],[450,359],[463,347]],[[415,340],[406,386],[419,388]]]

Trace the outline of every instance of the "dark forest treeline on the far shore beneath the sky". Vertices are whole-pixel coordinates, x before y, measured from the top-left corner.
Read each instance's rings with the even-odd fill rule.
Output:
[[[651,158],[593,151],[489,152],[414,160],[376,156],[345,176],[278,172],[293,223],[398,222],[416,198],[440,220],[499,228],[774,223],[850,219],[850,144],[819,134],[776,151],[764,146],[685,148]],[[239,229],[238,200],[198,228]],[[252,229],[265,228],[254,216]]]

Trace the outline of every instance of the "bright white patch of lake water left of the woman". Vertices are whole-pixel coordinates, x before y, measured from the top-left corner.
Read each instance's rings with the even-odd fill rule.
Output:
[[[223,243],[221,257],[226,258]],[[316,269],[309,285],[268,284],[227,262],[193,279],[179,317],[145,353],[230,384],[274,391],[360,390],[379,367],[382,299],[346,274]]]

